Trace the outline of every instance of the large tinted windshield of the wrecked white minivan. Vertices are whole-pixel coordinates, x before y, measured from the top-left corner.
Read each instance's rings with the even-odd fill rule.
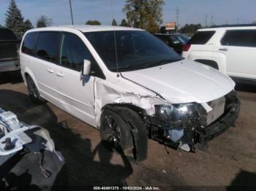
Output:
[[[146,31],[113,31],[85,33],[110,71],[130,71],[180,61],[180,55]]]

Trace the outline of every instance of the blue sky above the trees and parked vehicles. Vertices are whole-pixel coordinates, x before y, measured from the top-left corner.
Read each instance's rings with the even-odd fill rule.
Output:
[[[113,17],[118,24],[125,18],[122,8],[125,0],[71,0],[75,24],[99,20],[110,25]],[[10,0],[0,0],[0,25],[5,23],[5,12]],[[40,15],[52,18],[53,26],[70,25],[69,0],[16,0],[25,19],[35,25]],[[179,27],[186,23],[242,24],[256,20],[256,0],[165,0],[164,23],[176,21]],[[207,20],[206,20],[207,15]]]

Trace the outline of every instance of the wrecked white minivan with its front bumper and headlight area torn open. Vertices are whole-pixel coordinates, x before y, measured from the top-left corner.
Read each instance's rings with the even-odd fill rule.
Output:
[[[137,28],[33,29],[20,64],[32,101],[99,128],[137,160],[146,159],[148,139],[194,152],[233,126],[240,108],[232,79]]]

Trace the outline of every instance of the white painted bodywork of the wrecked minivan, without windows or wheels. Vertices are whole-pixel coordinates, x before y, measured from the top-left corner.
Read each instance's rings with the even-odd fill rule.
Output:
[[[94,56],[106,79],[86,76],[80,79],[80,72],[26,55],[20,48],[21,73],[25,83],[25,74],[29,74],[43,98],[97,128],[100,125],[102,108],[106,104],[133,104],[145,109],[148,115],[153,115],[155,104],[197,102],[207,107],[206,102],[226,95],[235,86],[229,77],[219,71],[187,60],[121,72],[118,77],[115,72],[107,69],[94,47],[81,33],[110,30],[140,29],[64,26],[31,30],[67,31],[77,34]],[[210,49],[211,47],[209,46]],[[36,66],[35,62],[39,65]]]

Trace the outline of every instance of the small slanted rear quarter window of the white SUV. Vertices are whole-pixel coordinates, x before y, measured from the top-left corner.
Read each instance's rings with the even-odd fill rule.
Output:
[[[187,44],[206,44],[211,36],[215,34],[215,31],[197,31]]]

